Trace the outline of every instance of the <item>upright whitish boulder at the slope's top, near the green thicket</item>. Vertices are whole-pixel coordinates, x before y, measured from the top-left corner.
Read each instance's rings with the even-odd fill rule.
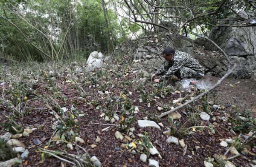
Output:
[[[93,51],[87,59],[87,71],[94,68],[100,68],[103,63],[103,55],[101,52]]]

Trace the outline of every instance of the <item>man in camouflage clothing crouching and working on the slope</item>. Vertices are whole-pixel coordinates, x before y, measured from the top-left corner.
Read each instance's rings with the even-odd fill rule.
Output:
[[[179,79],[201,79],[204,76],[204,68],[190,54],[168,47],[163,50],[163,57],[166,62],[155,74],[152,74],[152,78],[162,76],[154,79],[154,82],[166,80],[172,75]],[[195,81],[191,83],[194,85]]]

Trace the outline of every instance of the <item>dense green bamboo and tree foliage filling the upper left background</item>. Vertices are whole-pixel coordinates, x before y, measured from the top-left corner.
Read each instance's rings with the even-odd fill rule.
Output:
[[[3,0],[2,4],[0,55],[4,57],[44,61],[88,56],[108,50],[107,31],[113,47],[129,37],[113,8],[108,8],[106,28],[100,1]]]

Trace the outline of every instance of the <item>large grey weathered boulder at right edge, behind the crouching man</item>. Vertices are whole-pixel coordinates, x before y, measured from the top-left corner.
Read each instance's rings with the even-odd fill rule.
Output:
[[[250,78],[256,76],[256,26],[250,25],[249,21],[256,19],[253,12],[239,12],[239,16],[230,17],[224,24],[236,25],[236,27],[216,27],[209,34],[209,38],[218,44],[229,56],[232,63],[239,67],[231,75],[236,78]],[[243,22],[243,23],[241,23]],[[196,43],[204,45],[207,50],[217,51],[212,43],[197,39]],[[253,76],[254,75],[254,76]]]

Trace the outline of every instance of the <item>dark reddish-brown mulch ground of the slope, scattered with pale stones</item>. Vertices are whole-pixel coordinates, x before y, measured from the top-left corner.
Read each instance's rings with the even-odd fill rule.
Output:
[[[141,92],[137,91],[137,87],[140,85],[145,92],[151,94],[154,91],[154,88],[157,86],[151,82],[150,78],[146,78],[145,82],[140,81],[140,72],[136,71],[136,69],[132,69],[132,66],[127,62],[119,65],[120,62],[112,62],[112,65],[106,66],[104,70],[97,69],[92,76],[97,78],[98,86],[93,86],[92,82],[88,79],[88,75],[86,73],[76,74],[76,77],[79,81],[81,81],[82,88],[87,93],[87,96],[84,98],[80,98],[78,91],[76,91],[75,84],[73,82],[67,83],[67,79],[72,80],[70,75],[68,75],[68,71],[63,71],[63,73],[59,74],[59,77],[55,77],[55,84],[60,87],[61,95],[66,96],[67,102],[64,102],[62,99],[56,99],[58,104],[61,107],[66,107],[70,109],[72,106],[79,110],[80,113],[84,113],[84,116],[76,117],[75,119],[79,122],[79,137],[84,139],[84,144],[79,144],[88,151],[90,156],[96,156],[99,161],[101,161],[102,166],[104,167],[141,167],[147,166],[148,161],[143,163],[140,161],[140,153],[137,152],[137,155],[131,154],[130,150],[126,150],[121,147],[122,144],[130,143],[127,139],[116,139],[115,132],[120,131],[119,127],[104,125],[104,124],[116,124],[119,125],[120,121],[116,121],[114,123],[104,121],[104,117],[100,117],[100,115],[105,110],[106,101],[108,100],[107,94],[99,94],[98,91],[102,91],[102,85],[110,85],[107,86],[106,91],[109,92],[109,96],[120,96],[120,94],[124,94],[124,89],[131,92],[127,93],[126,96],[128,99],[131,99],[132,106],[137,106],[140,112],[135,114],[135,122],[131,127],[135,127],[134,136],[135,139],[133,141],[140,139],[137,134],[144,134],[145,131],[148,132],[148,136],[153,145],[157,148],[162,156],[160,159],[158,156],[150,155],[148,158],[155,159],[159,162],[160,166],[163,167],[202,167],[204,166],[204,160],[207,157],[212,157],[214,154],[223,155],[229,147],[222,147],[220,142],[227,138],[236,138],[230,129],[232,125],[229,124],[228,121],[223,121],[221,117],[225,116],[227,119],[232,117],[232,113],[234,112],[233,105],[238,105],[239,109],[253,109],[253,116],[255,118],[256,115],[256,82],[247,80],[247,79],[226,79],[220,86],[218,86],[215,91],[209,93],[209,101],[214,102],[215,105],[221,105],[225,108],[221,110],[212,111],[211,118],[215,117],[216,120],[210,119],[209,122],[202,120],[198,117],[197,125],[200,126],[208,126],[212,124],[214,126],[215,134],[209,130],[209,128],[204,128],[204,130],[192,129],[189,130],[189,134],[183,136],[179,139],[184,139],[185,144],[187,145],[186,154],[183,156],[184,148],[180,145],[177,146],[172,143],[167,143],[166,139],[168,136],[163,134],[163,131],[168,130],[170,126],[169,120],[167,117],[163,117],[159,119],[159,122],[162,122],[164,127],[161,127],[161,130],[156,129],[154,127],[141,128],[138,126],[137,120],[143,119],[143,117],[154,117],[156,115],[160,115],[162,111],[158,111],[157,107],[160,104],[169,104],[173,105],[172,101],[175,99],[185,97],[190,99],[190,96],[195,96],[198,92],[181,92],[175,93],[175,90],[172,93],[168,93],[164,98],[160,97],[159,99],[153,98],[150,101],[150,105],[148,103],[139,102],[141,98]],[[118,66],[119,65],[119,66]],[[125,66],[125,70],[124,70]],[[73,68],[76,66],[74,65]],[[81,67],[83,68],[83,67]],[[110,71],[113,68],[113,71]],[[115,69],[116,68],[116,69]],[[83,68],[84,69],[84,68]],[[98,72],[97,72],[98,71]],[[99,72],[100,71],[100,72]],[[99,76],[99,74],[103,73],[102,71],[106,71],[106,74]],[[136,72],[135,72],[136,71]],[[73,71],[74,72],[74,71]],[[91,72],[92,73],[92,72]],[[116,73],[120,74],[120,78],[117,77]],[[128,74],[127,74],[128,73]],[[98,74],[98,76],[97,76]],[[127,76],[123,76],[126,75]],[[13,75],[15,77],[15,75]],[[46,77],[47,76],[47,77]],[[106,77],[107,76],[107,77]],[[39,81],[35,84],[33,89],[37,91],[37,94],[40,96],[53,96],[47,87],[48,80],[50,75],[49,73],[42,73],[39,76]],[[64,80],[64,78],[66,80]],[[36,78],[35,78],[36,79]],[[206,76],[205,79],[210,79],[212,82],[215,82],[218,78],[212,76]],[[138,81],[138,83],[137,83]],[[111,84],[106,84],[107,82],[111,82]],[[230,86],[233,85],[232,86]],[[113,86],[112,86],[113,85]],[[11,83],[7,83],[5,85],[0,86],[0,93],[2,95],[3,89],[11,88]],[[177,92],[177,91],[176,91]],[[96,106],[93,105],[92,100],[99,100],[99,105],[102,107],[96,109]],[[201,100],[198,100],[198,104],[201,105]],[[76,106],[74,105],[76,104]],[[195,107],[194,104],[191,107]],[[47,156],[45,160],[41,162],[41,153],[38,152],[39,147],[45,147],[47,142],[51,139],[52,133],[55,130],[52,130],[52,121],[55,118],[49,112],[51,111],[46,102],[44,100],[38,98],[35,94],[31,94],[27,96],[27,105],[26,110],[29,111],[29,114],[23,116],[22,119],[16,118],[15,121],[19,124],[22,124],[24,128],[28,126],[38,127],[37,130],[29,134],[29,137],[21,137],[19,140],[26,145],[26,148],[29,149],[29,157],[23,160],[23,165],[27,167],[53,167],[53,166],[61,166],[61,161],[54,157]],[[0,106],[0,122],[7,122],[5,116],[12,115],[12,111],[6,108],[5,105]],[[186,128],[192,127],[191,122],[189,122],[189,112],[193,112],[193,110],[185,110],[182,108],[178,110],[181,114],[181,119],[177,120],[180,122],[180,125],[185,125]],[[121,118],[120,108],[117,109],[117,115]],[[154,120],[157,122],[157,120]],[[99,123],[99,124],[92,124]],[[102,129],[109,126],[108,130],[102,131]],[[1,127],[0,134],[6,133],[6,130]],[[239,134],[238,131],[236,131]],[[95,140],[97,136],[100,137],[101,141],[96,143]],[[123,134],[125,136],[125,134]],[[40,145],[35,145],[33,143],[33,139],[38,138],[41,140]],[[97,146],[92,148],[91,144],[96,144]],[[64,147],[65,144],[56,142],[52,142],[51,145],[47,148],[49,150],[63,150],[66,149],[69,153],[76,153],[76,151],[71,151],[67,147]],[[256,150],[251,149],[251,153],[256,153]],[[232,156],[230,153],[227,156]],[[243,155],[241,154],[239,157],[235,159],[231,159],[236,166],[249,166],[251,164],[251,160],[255,159],[250,154]],[[72,166],[71,164],[64,163],[65,166]]]

